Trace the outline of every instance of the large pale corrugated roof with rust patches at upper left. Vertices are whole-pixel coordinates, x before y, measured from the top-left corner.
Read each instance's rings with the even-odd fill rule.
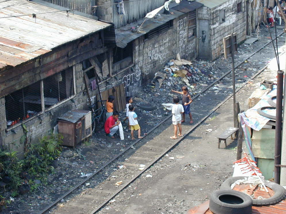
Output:
[[[53,12],[25,0],[0,0],[0,17]],[[53,48],[111,26],[66,12],[0,18],[0,68],[16,66]]]

